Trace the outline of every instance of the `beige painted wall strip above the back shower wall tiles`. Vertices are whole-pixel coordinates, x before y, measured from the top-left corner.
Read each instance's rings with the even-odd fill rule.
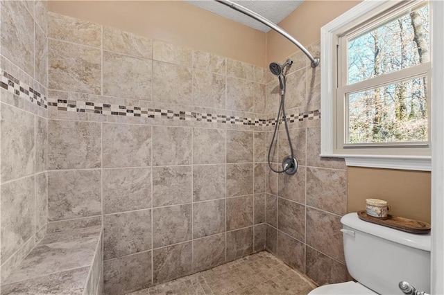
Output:
[[[49,11],[265,65],[265,33],[184,1],[50,1]]]

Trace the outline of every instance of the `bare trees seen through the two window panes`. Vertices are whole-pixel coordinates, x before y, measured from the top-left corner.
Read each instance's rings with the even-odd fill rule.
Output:
[[[348,84],[429,62],[429,7],[348,40]],[[427,141],[427,77],[388,82],[345,96],[348,143]]]

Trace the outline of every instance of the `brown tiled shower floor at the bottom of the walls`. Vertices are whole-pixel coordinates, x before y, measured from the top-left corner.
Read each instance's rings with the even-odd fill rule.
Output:
[[[130,294],[307,294],[315,287],[284,262],[262,251]]]

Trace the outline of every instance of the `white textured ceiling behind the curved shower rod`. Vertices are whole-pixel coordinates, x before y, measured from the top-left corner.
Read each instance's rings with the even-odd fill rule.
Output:
[[[237,21],[251,28],[262,30],[262,32],[264,33],[270,30],[268,26],[265,26],[259,21],[214,0],[185,1],[205,10],[214,12],[217,15],[221,15],[222,17]],[[279,24],[282,19],[287,17],[291,12],[298,8],[298,6],[300,6],[303,1],[304,0],[232,0],[232,2],[244,6],[249,10],[253,10],[254,12],[262,15],[262,17],[265,17],[275,24]]]

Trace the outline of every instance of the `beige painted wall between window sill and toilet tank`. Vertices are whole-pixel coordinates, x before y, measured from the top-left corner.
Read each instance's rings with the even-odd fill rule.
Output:
[[[430,222],[430,172],[348,168],[348,212],[365,210],[366,199],[384,199],[391,214]]]

